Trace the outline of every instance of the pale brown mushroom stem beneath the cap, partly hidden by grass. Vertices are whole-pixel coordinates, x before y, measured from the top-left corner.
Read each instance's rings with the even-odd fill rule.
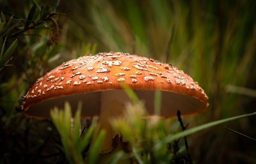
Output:
[[[101,111],[97,126],[99,130],[106,130],[106,136],[100,150],[101,153],[108,153],[113,150],[112,139],[118,132],[112,129],[110,121],[123,116],[126,110],[125,104],[128,101],[130,101],[130,98],[126,95],[124,90],[104,91],[101,93]],[[97,134],[93,134],[93,138],[95,135]]]

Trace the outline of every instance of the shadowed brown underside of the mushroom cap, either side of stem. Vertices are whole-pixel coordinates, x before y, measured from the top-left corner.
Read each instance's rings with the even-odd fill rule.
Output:
[[[83,110],[81,111],[81,116],[84,118],[91,118],[93,116],[98,116],[100,114],[101,92],[104,92],[105,95],[115,95],[115,92],[120,91],[124,92],[123,90],[98,91],[50,99],[33,105],[27,111],[25,111],[25,114],[29,117],[48,118],[50,109],[52,109],[53,107],[63,109],[64,102],[68,101],[70,103],[72,113],[74,115],[77,109],[78,101],[82,101]],[[148,115],[154,115],[155,91],[134,90],[134,92],[136,93],[138,98],[142,102],[144,102]],[[202,113],[205,111],[205,109],[206,107],[204,103],[202,103],[200,100],[194,97],[162,91],[160,110],[160,116],[162,117],[175,117],[178,110],[180,110],[182,116],[186,117]]]

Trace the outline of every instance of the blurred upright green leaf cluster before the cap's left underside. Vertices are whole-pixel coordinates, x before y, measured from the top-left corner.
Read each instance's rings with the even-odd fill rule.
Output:
[[[91,126],[86,133],[80,137],[80,113],[82,110],[82,103],[78,103],[78,109],[74,117],[74,126],[72,126],[72,114],[69,103],[64,104],[64,110],[59,110],[54,107],[50,111],[50,116],[58,132],[60,133],[62,145],[66,159],[69,163],[83,163],[82,153],[84,149],[89,145],[91,136],[96,125],[96,119],[93,119]],[[96,140],[91,144],[89,150],[89,161],[95,164],[98,160],[99,150],[103,139],[105,137],[105,130],[102,130]]]

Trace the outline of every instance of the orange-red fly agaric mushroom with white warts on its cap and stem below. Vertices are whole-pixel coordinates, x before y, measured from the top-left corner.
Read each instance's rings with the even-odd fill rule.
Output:
[[[145,102],[149,115],[154,115],[156,90],[162,91],[161,117],[175,117],[178,110],[192,116],[208,106],[204,90],[180,69],[146,57],[109,52],[66,61],[46,73],[23,97],[22,111],[28,117],[47,118],[51,108],[63,108],[68,101],[76,109],[82,100],[81,116],[99,116],[100,128],[107,131],[102,153],[110,152],[115,132],[109,121],[121,116],[130,101],[122,83]]]

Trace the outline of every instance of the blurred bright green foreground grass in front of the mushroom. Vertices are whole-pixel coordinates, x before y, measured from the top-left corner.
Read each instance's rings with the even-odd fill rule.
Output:
[[[127,93],[129,93],[129,95],[133,94],[132,90],[127,90]],[[88,130],[84,132],[85,134],[81,135],[81,107],[82,106],[80,103],[78,105],[78,110],[76,111],[76,114],[73,118],[69,104],[65,103],[64,109],[60,110],[54,108],[51,111],[51,118],[58,132],[60,133],[66,160],[68,160],[69,163],[96,164],[100,160],[99,152],[105,131],[102,130],[96,140],[90,143],[93,130],[98,130],[94,129],[96,124],[94,120],[92,121],[92,124]],[[236,117],[230,117],[227,119],[221,119],[218,121],[202,124],[194,128],[189,128],[182,132],[172,133],[173,129],[171,130],[168,128],[170,124],[167,124],[166,121],[160,119],[157,116],[143,119],[147,116],[146,109],[144,109],[141,103],[138,101],[137,103],[131,103],[127,105],[127,111],[124,115],[124,118],[114,119],[111,121],[111,123],[113,128],[120,132],[122,138],[124,138],[125,142],[128,143],[130,158],[133,158],[140,164],[156,162],[167,164],[170,163],[170,161],[176,160],[177,158],[174,150],[168,147],[168,145],[173,146],[174,142],[180,138],[189,134],[196,133],[200,130],[205,130],[212,126],[216,126],[218,124],[223,124],[228,121],[234,121],[236,119],[241,119],[243,117],[249,117],[252,115],[256,115],[256,112]],[[73,120],[72,123],[71,120]],[[90,148],[88,152],[84,152],[89,144]],[[84,153],[86,153],[85,157],[83,157]],[[106,158],[106,161],[110,160],[110,163],[114,164],[118,162],[122,156],[124,156],[124,150],[121,149],[116,152],[116,154],[112,155],[112,160],[111,158]],[[101,163],[102,162],[103,161],[101,160]]]

